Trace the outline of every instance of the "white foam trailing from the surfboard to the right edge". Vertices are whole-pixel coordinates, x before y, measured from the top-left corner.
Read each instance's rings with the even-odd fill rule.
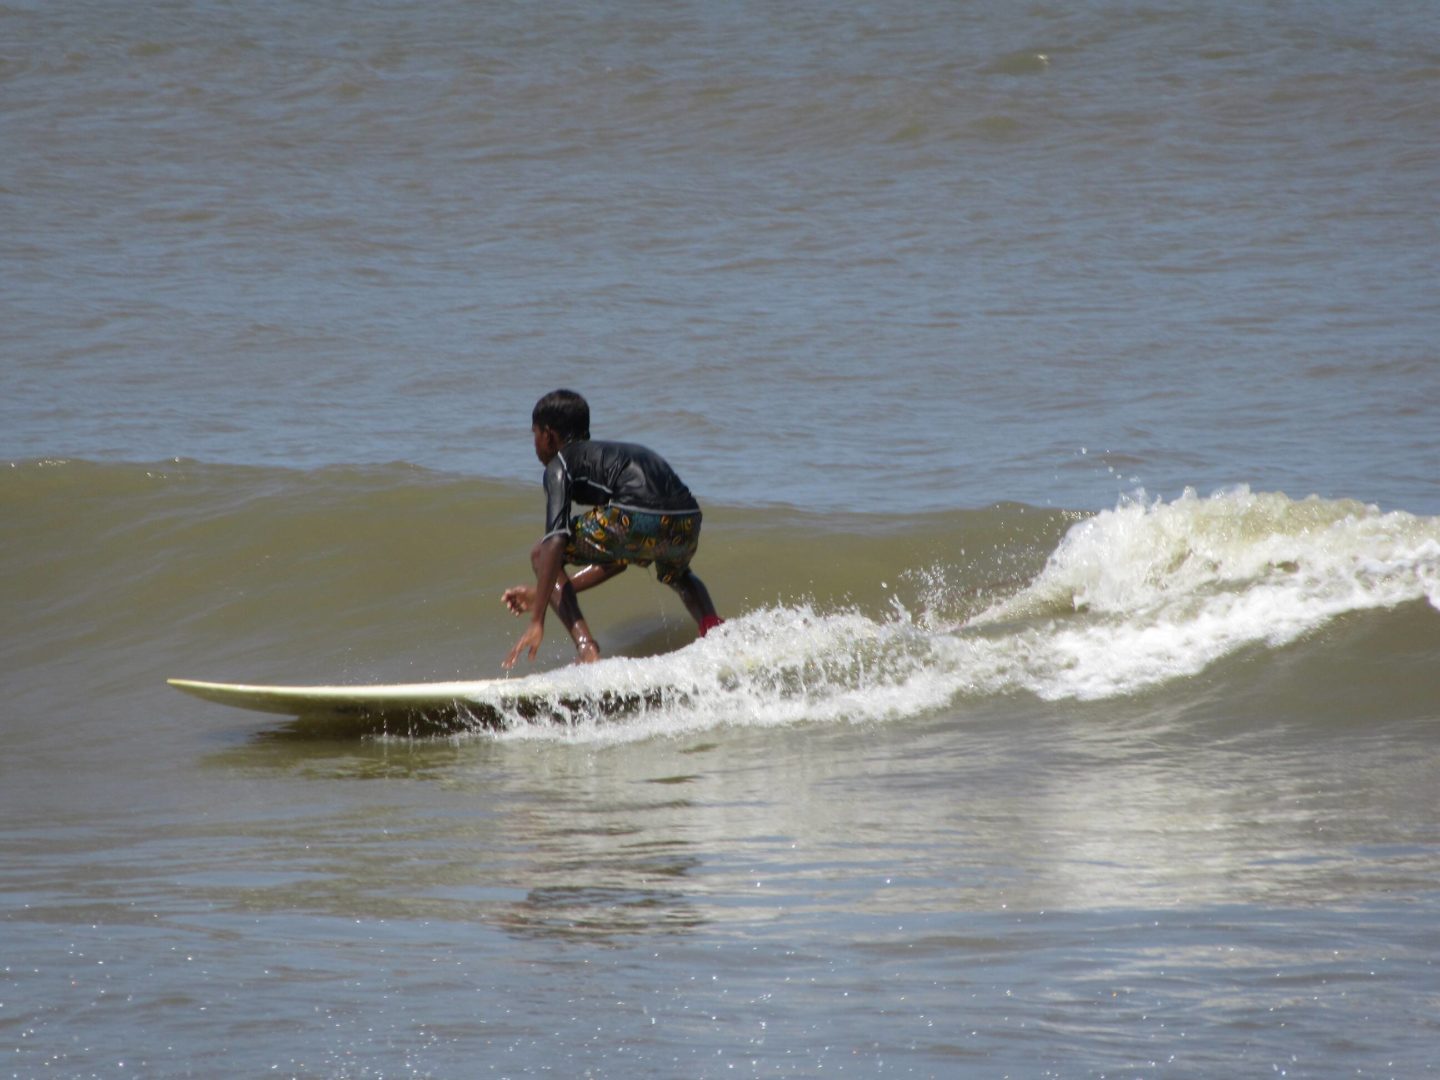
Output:
[[[508,737],[883,721],[1015,691],[1116,697],[1416,599],[1440,609],[1440,518],[1247,488],[1128,500],[1073,527],[1030,585],[959,628],[899,605],[883,618],[769,608],[678,652],[556,672],[580,697],[664,687],[624,723],[582,717]]]

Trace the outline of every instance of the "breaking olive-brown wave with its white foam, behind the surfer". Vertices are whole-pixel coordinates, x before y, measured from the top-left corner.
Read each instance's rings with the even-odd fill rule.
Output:
[[[3,482],[4,660],[45,714],[167,675],[500,675],[518,624],[497,598],[524,580],[539,528],[534,491],[408,465],[30,462]],[[1257,672],[1279,700],[1309,701],[1320,680],[1351,703],[1440,638],[1440,518],[1247,488],[1093,516],[716,507],[696,566],[729,615],[704,642],[645,572],[583,598],[619,662],[566,685],[667,693],[563,737],[884,721],[1017,694],[1224,700]],[[552,621],[540,665],[566,664],[566,645]],[[1411,667],[1367,708],[1433,683]]]

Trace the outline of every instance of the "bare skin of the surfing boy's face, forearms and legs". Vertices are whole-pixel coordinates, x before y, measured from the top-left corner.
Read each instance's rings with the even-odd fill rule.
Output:
[[[564,439],[550,428],[534,426],[531,428],[531,433],[536,441],[536,456],[540,458],[541,465],[549,465],[554,459],[554,455],[564,446]],[[540,651],[540,642],[544,641],[544,616],[550,608],[554,608],[556,615],[560,616],[560,622],[570,632],[570,639],[575,642],[576,662],[593,664],[600,658],[600,647],[590,636],[590,628],[580,613],[576,593],[593,589],[596,585],[624,573],[625,563],[596,563],[582,566],[575,573],[566,573],[564,537],[552,536],[530,549],[530,566],[536,572],[536,583],[533,586],[511,586],[500,598],[511,613],[530,613],[530,624],[520,635],[520,641],[516,642],[514,648],[501,661],[501,667],[507,670],[513,668],[520,660],[521,652],[528,660],[536,658],[536,654]],[[697,624],[707,616],[714,616],[716,609],[710,600],[710,593],[704,582],[696,577],[696,575],[687,570],[685,576],[674,582],[671,588],[680,595],[685,611],[690,612]],[[537,596],[547,596],[550,602],[536,603]]]

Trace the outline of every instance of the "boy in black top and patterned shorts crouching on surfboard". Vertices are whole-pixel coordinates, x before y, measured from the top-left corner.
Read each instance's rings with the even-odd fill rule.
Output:
[[[547,608],[570,631],[577,662],[599,660],[576,593],[631,563],[654,563],[655,576],[680,593],[700,636],[719,626],[710,593],[690,569],[700,541],[700,504],[665,459],[631,442],[592,439],[590,406],[575,390],[554,390],[536,402],[530,431],[544,465],[546,531],[530,549],[534,586],[516,585],[501,596],[516,615],[530,615],[503,667],[514,667],[521,652],[536,658]],[[572,501],[593,508],[572,518]],[[580,569],[567,573],[566,564]],[[549,605],[536,603],[539,596]]]

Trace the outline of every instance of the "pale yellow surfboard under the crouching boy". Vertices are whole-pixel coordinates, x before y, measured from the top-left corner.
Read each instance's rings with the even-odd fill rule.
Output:
[[[526,675],[471,683],[395,685],[246,685],[167,680],[176,690],[222,706],[291,717],[348,719],[367,730],[474,730],[517,723],[573,724],[635,713],[665,697],[662,687],[593,690],[575,678]],[[396,724],[405,727],[397,729]]]

